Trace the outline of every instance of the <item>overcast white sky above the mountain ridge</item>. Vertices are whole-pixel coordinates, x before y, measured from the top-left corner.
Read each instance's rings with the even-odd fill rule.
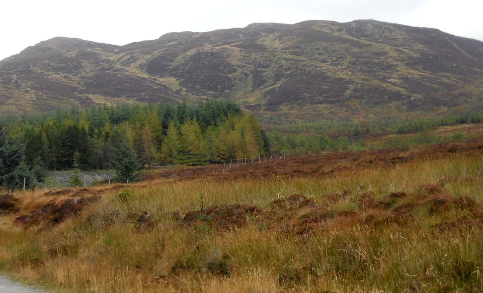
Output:
[[[53,37],[125,45],[254,22],[374,19],[483,40],[483,0],[2,0],[0,60]]]

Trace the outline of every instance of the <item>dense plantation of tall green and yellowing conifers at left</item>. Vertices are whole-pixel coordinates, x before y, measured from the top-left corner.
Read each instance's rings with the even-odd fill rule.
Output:
[[[140,165],[203,165],[269,149],[258,120],[229,101],[134,104],[2,117],[2,138],[25,170],[115,169],[120,150]],[[0,167],[2,168],[2,167]],[[0,180],[2,178],[0,177]]]

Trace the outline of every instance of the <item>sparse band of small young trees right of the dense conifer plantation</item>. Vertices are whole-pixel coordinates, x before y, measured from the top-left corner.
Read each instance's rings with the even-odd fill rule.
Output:
[[[420,119],[376,119],[363,121],[332,120],[282,123],[275,118],[262,119],[275,125],[268,132],[272,147],[286,154],[313,154],[323,151],[361,151],[367,149],[364,138],[373,135],[421,133],[415,141],[392,140],[384,147],[401,147],[411,144],[430,144],[428,131],[441,126],[483,122],[483,113]],[[454,137],[458,138],[457,136]],[[436,139],[434,139],[437,142]]]

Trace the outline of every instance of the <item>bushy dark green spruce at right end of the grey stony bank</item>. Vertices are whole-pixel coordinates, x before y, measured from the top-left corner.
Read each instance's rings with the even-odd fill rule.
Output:
[[[133,182],[139,174],[141,164],[136,153],[125,144],[121,144],[115,154],[116,175],[118,182]]]

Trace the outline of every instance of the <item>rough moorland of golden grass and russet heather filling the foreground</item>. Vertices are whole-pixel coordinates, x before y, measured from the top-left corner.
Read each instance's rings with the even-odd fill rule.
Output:
[[[156,171],[3,195],[0,269],[72,292],[483,291],[482,150],[477,139],[334,153],[345,167],[333,172],[306,156],[320,172],[277,172],[286,158],[220,170],[231,179]],[[236,175],[257,166],[273,171]]]

